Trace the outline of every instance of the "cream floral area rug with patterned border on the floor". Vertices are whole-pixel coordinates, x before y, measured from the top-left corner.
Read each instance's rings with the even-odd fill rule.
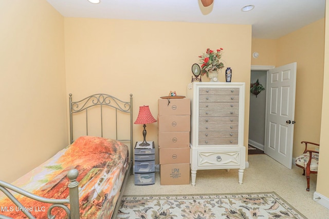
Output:
[[[306,218],[275,192],[124,195],[118,219]]]

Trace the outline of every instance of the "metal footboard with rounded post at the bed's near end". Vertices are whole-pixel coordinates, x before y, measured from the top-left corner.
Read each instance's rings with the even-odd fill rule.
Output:
[[[0,181],[0,190],[17,206],[19,207],[22,212],[29,218],[29,219],[36,219],[26,207],[22,205],[15,197],[14,195],[9,191],[14,191],[19,194],[22,194],[26,197],[29,197],[33,200],[43,202],[43,203],[50,203],[52,204],[47,211],[47,217],[48,219],[54,219],[56,218],[55,215],[51,214],[51,210],[53,208],[62,208],[65,210],[67,214],[68,219],[80,219],[79,214],[79,192],[78,192],[78,170],[72,169],[68,171],[67,177],[69,178],[69,199],[52,199],[52,198],[45,198],[38,195],[35,195],[33,193],[27,192],[24,189],[21,189],[19,187],[13,186],[9,183],[6,183],[4,181]],[[68,208],[65,204],[70,204],[70,208]],[[0,215],[0,219],[15,219],[12,217]]]

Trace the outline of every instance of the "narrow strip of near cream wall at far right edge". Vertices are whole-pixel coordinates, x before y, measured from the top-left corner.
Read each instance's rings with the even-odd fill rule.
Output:
[[[329,14],[329,5],[325,6],[326,14]],[[323,99],[322,99],[322,118],[321,118],[321,137],[320,137],[320,155],[319,169],[317,177],[317,192],[327,197],[326,204],[329,206],[329,98],[326,96],[329,93],[329,17],[325,18],[325,47],[324,47],[324,76],[323,76]],[[323,147],[324,146],[324,147]]]

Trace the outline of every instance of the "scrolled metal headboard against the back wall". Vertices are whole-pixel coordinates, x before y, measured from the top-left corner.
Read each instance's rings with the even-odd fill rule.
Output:
[[[103,106],[111,107],[115,110],[115,130],[116,140],[118,141],[130,141],[131,149],[133,148],[133,94],[130,94],[130,101],[125,102],[120,99],[104,94],[94,94],[81,99],[80,101],[73,102],[72,94],[69,94],[69,108],[70,108],[70,144],[74,142],[73,138],[73,114],[79,112],[85,112],[86,118],[86,135],[88,135],[88,109],[95,106],[100,106],[100,118],[101,118],[101,137],[103,137]],[[118,111],[130,114],[130,140],[118,139]],[[132,151],[131,151],[132,152]]]

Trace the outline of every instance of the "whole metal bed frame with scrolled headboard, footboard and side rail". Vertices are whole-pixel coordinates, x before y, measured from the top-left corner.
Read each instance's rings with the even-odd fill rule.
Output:
[[[115,109],[115,127],[116,127],[116,140],[121,142],[130,142],[130,153],[129,153],[129,166],[127,168],[127,171],[124,176],[123,183],[121,185],[120,194],[118,201],[116,203],[112,218],[115,218],[117,215],[120,202],[123,195],[123,188],[125,187],[125,184],[127,182],[127,178],[130,174],[132,174],[132,153],[133,153],[133,94],[130,94],[130,101],[124,102],[120,99],[108,95],[108,94],[94,94],[90,95],[84,99],[81,99],[77,102],[72,102],[72,94],[69,94],[69,110],[70,110],[70,144],[74,142],[73,137],[73,114],[85,112],[86,115],[86,135],[88,135],[88,109],[90,107],[100,106],[100,117],[101,117],[101,137],[103,137],[103,107],[110,107]],[[127,113],[130,114],[130,140],[119,140],[118,139],[118,113]],[[44,198],[38,195],[34,195],[30,192],[27,192],[21,188],[18,188],[16,186],[13,186],[9,183],[0,181],[0,190],[7,195],[7,197],[10,198],[10,200],[17,206],[23,209],[23,213],[29,218],[29,219],[36,219],[29,211],[24,210],[24,206],[22,203],[20,203],[9,190],[12,190],[14,192],[17,192],[19,194],[22,194],[24,196],[27,196],[29,198],[32,198],[33,200],[44,202],[44,203],[50,203],[53,204],[49,207],[47,211],[47,217],[48,219],[54,219],[56,216],[51,214],[51,210],[55,207],[63,208],[67,214],[68,219],[79,219],[80,218],[80,212],[79,212],[79,191],[78,186],[79,183],[77,182],[78,177],[78,170],[72,169],[68,171],[67,177],[69,178],[69,198],[68,199],[52,199],[52,198]],[[70,205],[70,208],[67,207],[66,204]],[[0,215],[0,219],[13,219],[8,216]]]

